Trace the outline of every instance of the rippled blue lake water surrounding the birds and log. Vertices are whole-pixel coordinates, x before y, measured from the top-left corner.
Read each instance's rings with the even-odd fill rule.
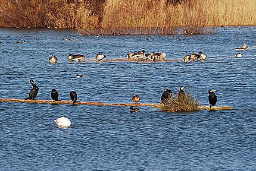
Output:
[[[185,85],[201,105],[208,105],[208,90],[215,89],[217,106],[234,107],[190,113],[140,107],[141,112],[129,113],[129,107],[118,106],[0,102],[0,170],[254,170],[255,33],[255,26],[221,27],[217,34],[177,35],[178,40],[0,29],[0,98],[27,97],[33,78],[39,87],[37,99],[51,99],[56,88],[60,100],[69,100],[75,90],[80,101],[130,103],[139,94],[141,103],[158,103],[164,88],[177,93]],[[74,41],[63,40],[66,37]],[[27,43],[16,43],[20,38]],[[249,49],[236,58],[235,47],[243,43]],[[69,53],[92,59],[102,52],[115,59],[142,49],[166,52],[167,59],[202,50],[208,59],[154,64],[67,61]],[[52,54],[58,58],[56,65],[48,62]],[[57,127],[54,119],[60,116],[70,119],[71,128]]]

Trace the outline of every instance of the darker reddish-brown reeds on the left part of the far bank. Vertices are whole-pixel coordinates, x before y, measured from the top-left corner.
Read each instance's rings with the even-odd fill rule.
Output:
[[[68,0],[1,0],[0,27],[83,28],[95,27],[97,19],[88,5]]]

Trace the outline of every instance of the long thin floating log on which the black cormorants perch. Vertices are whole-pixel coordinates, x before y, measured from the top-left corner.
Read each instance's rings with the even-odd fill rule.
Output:
[[[73,105],[71,101],[68,100],[25,100],[25,99],[0,99],[0,102],[17,102],[17,103],[50,103],[50,104],[70,104]],[[95,106],[151,106],[159,107],[160,104],[154,103],[101,103],[101,102],[75,102],[74,105],[95,105]],[[230,106],[199,106],[199,110],[232,110],[233,107]]]

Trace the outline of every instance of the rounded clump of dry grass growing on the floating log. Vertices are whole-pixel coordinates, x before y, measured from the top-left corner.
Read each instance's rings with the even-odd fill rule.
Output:
[[[190,93],[185,93],[185,96],[171,97],[165,104],[161,103],[159,107],[168,112],[192,112],[199,110],[199,102]]]

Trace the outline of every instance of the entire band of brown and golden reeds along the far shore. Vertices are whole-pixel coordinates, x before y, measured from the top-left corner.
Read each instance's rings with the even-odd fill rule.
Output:
[[[255,0],[0,1],[0,27],[77,28],[83,34],[211,33],[211,26],[255,25],[255,16]]]

